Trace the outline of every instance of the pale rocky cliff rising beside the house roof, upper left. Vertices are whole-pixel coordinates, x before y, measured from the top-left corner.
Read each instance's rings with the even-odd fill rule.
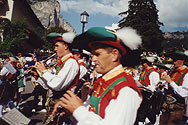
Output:
[[[57,0],[28,0],[28,2],[46,29],[59,25],[67,31],[76,32],[60,15],[60,4]]]

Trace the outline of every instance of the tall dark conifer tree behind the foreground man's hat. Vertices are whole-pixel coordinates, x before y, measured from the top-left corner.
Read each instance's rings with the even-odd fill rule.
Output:
[[[161,52],[164,41],[158,20],[158,10],[153,0],[130,0],[129,8],[119,15],[125,17],[119,21],[119,26],[132,27],[142,36],[142,49]]]

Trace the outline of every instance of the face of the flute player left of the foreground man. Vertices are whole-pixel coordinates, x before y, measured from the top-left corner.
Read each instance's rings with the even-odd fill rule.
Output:
[[[65,44],[63,42],[56,42],[55,43],[54,50],[55,50],[58,57],[61,58],[61,57],[65,56],[65,49],[66,49],[66,47],[65,47]]]

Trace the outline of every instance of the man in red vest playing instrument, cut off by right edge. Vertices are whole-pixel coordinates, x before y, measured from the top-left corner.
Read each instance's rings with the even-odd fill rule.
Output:
[[[172,95],[176,98],[177,102],[173,105],[174,109],[170,112],[170,115],[168,114],[169,117],[164,116],[166,118],[163,122],[167,124],[174,124],[174,123],[187,124],[188,123],[187,120],[188,119],[188,98],[187,98],[188,97],[188,67],[184,65],[187,55],[184,52],[175,51],[169,56],[174,61],[174,71],[172,71],[170,75],[168,74],[163,75],[162,79],[166,80],[168,82],[169,87],[172,88],[173,90]],[[185,117],[185,119],[182,119],[183,116]]]

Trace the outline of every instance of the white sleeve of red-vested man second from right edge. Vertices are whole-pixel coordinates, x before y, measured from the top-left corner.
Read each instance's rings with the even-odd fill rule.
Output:
[[[156,85],[159,83],[160,81],[160,76],[159,76],[159,73],[153,71],[150,73],[149,75],[149,81],[150,81],[150,90],[151,91],[154,91],[155,90],[155,87]]]

